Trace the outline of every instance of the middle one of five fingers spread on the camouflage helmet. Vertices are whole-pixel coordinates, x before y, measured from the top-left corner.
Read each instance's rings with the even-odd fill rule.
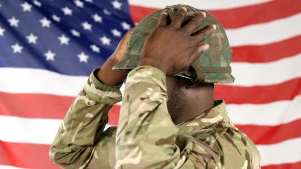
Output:
[[[196,29],[197,27],[202,24],[202,22],[206,18],[206,12],[202,11],[199,14],[197,14],[194,18],[192,18],[184,27],[183,30],[185,31],[185,34],[187,36],[190,36]]]

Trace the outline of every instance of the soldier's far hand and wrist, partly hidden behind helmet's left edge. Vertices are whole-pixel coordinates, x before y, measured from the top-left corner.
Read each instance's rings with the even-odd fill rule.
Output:
[[[100,81],[109,86],[118,86],[124,79],[127,78],[127,70],[112,70],[112,67],[116,65],[124,56],[127,51],[127,42],[130,39],[134,27],[123,36],[114,53],[107,59],[102,68],[98,71],[97,77]]]

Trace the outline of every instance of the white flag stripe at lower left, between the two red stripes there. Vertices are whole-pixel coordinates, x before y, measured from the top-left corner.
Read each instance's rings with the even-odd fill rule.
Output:
[[[0,140],[15,143],[51,144],[62,121],[0,116]],[[107,125],[105,129],[110,126]]]

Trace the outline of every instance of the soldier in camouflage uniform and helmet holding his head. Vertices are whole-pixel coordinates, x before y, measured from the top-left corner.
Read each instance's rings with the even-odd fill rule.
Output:
[[[213,100],[214,83],[234,81],[231,59],[207,11],[175,5],[146,16],[91,73],[51,160],[64,168],[260,168],[254,143]],[[118,128],[104,131],[126,77]]]

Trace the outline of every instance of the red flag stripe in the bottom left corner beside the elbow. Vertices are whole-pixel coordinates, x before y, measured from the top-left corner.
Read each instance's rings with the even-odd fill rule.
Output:
[[[0,164],[22,168],[61,168],[48,156],[49,145],[8,143],[0,140]]]

